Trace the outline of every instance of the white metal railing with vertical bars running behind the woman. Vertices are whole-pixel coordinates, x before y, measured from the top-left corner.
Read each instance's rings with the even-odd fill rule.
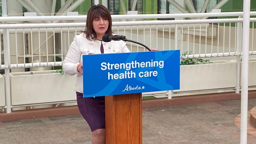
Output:
[[[210,16],[241,16],[242,12],[224,13],[191,13],[191,14],[152,14],[152,15],[113,15],[113,19],[137,19],[137,18],[176,18],[176,17],[210,17]],[[256,15],[256,12],[251,12]],[[44,21],[44,20],[84,20],[86,16],[37,16],[37,17],[0,17],[0,21]],[[256,18],[250,18],[255,22]],[[209,58],[237,56],[240,60],[242,46],[242,18],[229,19],[192,19],[192,20],[166,20],[166,21],[120,21],[113,22],[113,31],[116,34],[126,35],[127,38],[149,45],[159,50],[181,50],[181,59],[187,58]],[[227,24],[227,25],[226,25]],[[223,25],[226,25],[225,27]],[[234,25],[234,26],[232,26]],[[73,36],[77,35],[85,27],[85,23],[24,23],[24,24],[2,24],[0,34],[6,37],[10,33],[10,43],[5,43],[5,63],[0,69],[34,68],[61,66]],[[254,25],[252,26],[254,28]],[[58,34],[58,35],[56,35]],[[33,36],[37,35],[37,36]],[[1,36],[1,35],[0,35]],[[41,38],[44,37],[43,40]],[[195,39],[195,37],[198,37]],[[220,39],[222,37],[222,39]],[[58,40],[56,40],[58,38]],[[7,37],[5,39],[8,39]],[[22,43],[19,43],[21,39]],[[51,39],[51,40],[50,40]],[[253,49],[254,33],[251,33],[250,55],[256,54]],[[34,41],[36,40],[36,41]],[[197,41],[198,40],[198,41]],[[27,42],[28,41],[28,42]],[[41,42],[40,42],[41,41]],[[53,42],[50,46],[49,43]],[[234,43],[232,43],[233,41]],[[34,43],[37,46],[34,46]],[[147,42],[147,43],[146,43]],[[58,44],[56,44],[58,43]],[[173,45],[174,43],[174,45]],[[9,46],[8,46],[9,44]],[[131,51],[145,51],[137,44],[127,43]],[[51,48],[50,48],[51,47]],[[15,49],[11,51],[10,49]],[[20,52],[22,51],[22,52]],[[183,52],[191,51],[191,54],[182,55]],[[56,61],[55,57],[61,61]],[[12,61],[9,60],[12,57]],[[29,62],[27,62],[27,58]],[[37,59],[37,61],[36,61]],[[38,62],[39,60],[39,62]],[[1,55],[0,55],[1,64]],[[240,65],[240,62],[237,62]],[[240,66],[237,72],[240,72]],[[237,75],[236,93],[240,89],[240,74]],[[8,78],[7,78],[8,81]],[[10,88],[10,85],[6,85]],[[234,88],[221,88],[224,90]],[[209,90],[204,90],[209,91]],[[190,91],[190,92],[198,92]],[[182,93],[182,92],[179,92]],[[185,92],[183,92],[185,93]],[[153,95],[158,95],[155,93]],[[171,98],[171,91],[160,93]],[[145,94],[147,96],[149,94]],[[150,94],[152,95],[152,94]],[[10,97],[8,96],[7,98]],[[59,102],[62,103],[62,102]],[[64,103],[64,102],[63,102]],[[48,104],[48,103],[46,103]],[[32,104],[40,105],[40,104]],[[11,106],[9,107],[21,107]],[[29,105],[26,105],[29,106]]]

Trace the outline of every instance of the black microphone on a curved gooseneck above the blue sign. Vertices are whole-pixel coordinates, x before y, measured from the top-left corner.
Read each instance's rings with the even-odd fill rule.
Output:
[[[104,42],[110,42],[112,40],[123,40],[123,41],[128,41],[128,42],[133,42],[133,43],[136,43],[136,44],[139,44],[143,47],[145,47],[148,51],[151,51],[151,49],[149,49],[146,45],[140,43],[140,42],[137,42],[137,41],[134,41],[134,40],[130,40],[130,39],[126,39],[126,37],[124,35],[110,35],[110,34],[104,34],[102,36],[102,40]]]

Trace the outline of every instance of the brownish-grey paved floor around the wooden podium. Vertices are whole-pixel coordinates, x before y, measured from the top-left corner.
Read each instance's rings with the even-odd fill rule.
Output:
[[[256,99],[248,100],[248,108]],[[239,144],[234,117],[240,100],[147,108],[142,111],[143,144]],[[81,115],[0,122],[0,144],[90,144]],[[256,137],[248,134],[248,144]]]

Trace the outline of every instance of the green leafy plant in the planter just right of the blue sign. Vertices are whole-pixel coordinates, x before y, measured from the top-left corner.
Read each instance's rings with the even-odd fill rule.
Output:
[[[188,54],[192,54],[192,51],[186,51],[182,53],[182,56],[186,56]],[[180,65],[197,65],[197,64],[206,64],[206,63],[212,63],[209,59],[203,60],[202,58],[187,58],[187,59],[182,59]]]

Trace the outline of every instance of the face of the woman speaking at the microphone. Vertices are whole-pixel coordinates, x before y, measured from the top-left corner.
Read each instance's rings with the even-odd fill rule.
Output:
[[[102,17],[96,17],[93,20],[93,29],[97,35],[103,35],[108,30],[108,20]]]

